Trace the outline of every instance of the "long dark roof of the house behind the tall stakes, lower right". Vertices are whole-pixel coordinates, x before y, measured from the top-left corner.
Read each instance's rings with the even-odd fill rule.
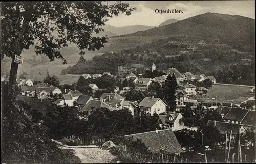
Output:
[[[214,122],[215,122],[215,126],[214,126]],[[230,134],[231,129],[233,129],[232,131],[232,135],[237,135],[239,132],[239,124],[232,124],[232,123],[228,123],[228,122],[220,122],[220,121],[212,121],[209,120],[207,125],[212,125],[214,127],[216,127],[220,132],[220,134],[225,135],[225,132],[227,132],[227,134]]]

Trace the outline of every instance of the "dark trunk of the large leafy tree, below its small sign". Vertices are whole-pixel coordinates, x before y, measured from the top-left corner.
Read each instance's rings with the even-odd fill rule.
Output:
[[[18,63],[14,62],[15,56],[12,58],[10,77],[9,77],[9,87],[8,87],[8,96],[11,100],[15,99],[16,95],[16,80],[18,72]]]

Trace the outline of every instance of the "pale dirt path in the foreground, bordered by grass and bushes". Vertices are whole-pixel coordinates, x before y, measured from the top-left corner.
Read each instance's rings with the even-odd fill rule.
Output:
[[[58,143],[61,149],[72,149],[75,151],[75,156],[77,156],[81,163],[111,163],[111,160],[115,159],[108,150],[101,149],[96,145],[89,146],[68,146],[61,142],[52,140]]]

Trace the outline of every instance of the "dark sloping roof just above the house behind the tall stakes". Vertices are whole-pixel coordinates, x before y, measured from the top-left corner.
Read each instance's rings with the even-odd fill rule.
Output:
[[[247,114],[248,110],[242,110],[241,108],[232,107],[223,119],[242,121]]]

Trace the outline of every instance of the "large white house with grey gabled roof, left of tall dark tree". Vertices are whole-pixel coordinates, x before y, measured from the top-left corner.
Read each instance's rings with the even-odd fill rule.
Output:
[[[160,98],[145,97],[138,105],[141,111],[153,115],[166,112],[166,104]]]

